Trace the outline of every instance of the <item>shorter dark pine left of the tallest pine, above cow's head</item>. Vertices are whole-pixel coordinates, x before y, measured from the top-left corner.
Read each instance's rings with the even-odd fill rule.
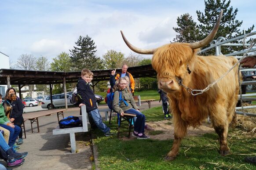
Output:
[[[183,14],[177,18],[178,27],[172,27],[178,35],[173,39],[174,42],[194,43],[198,40],[199,29],[190,14]]]

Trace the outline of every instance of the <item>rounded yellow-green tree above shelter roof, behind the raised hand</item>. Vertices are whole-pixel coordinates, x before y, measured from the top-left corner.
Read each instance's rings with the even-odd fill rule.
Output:
[[[108,50],[102,55],[104,58],[105,69],[120,68],[124,61],[124,54],[114,50]]]

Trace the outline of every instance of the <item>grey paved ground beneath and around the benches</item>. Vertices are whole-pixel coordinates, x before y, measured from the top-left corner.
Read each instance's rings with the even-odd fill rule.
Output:
[[[161,105],[158,101],[152,102],[151,106]],[[106,109],[107,105],[99,105],[99,109]],[[141,110],[148,109],[148,104],[142,103]],[[26,114],[26,113],[24,113]],[[79,116],[79,108],[71,107],[64,112],[66,116]],[[105,114],[102,113],[102,119]],[[40,133],[31,133],[30,121],[25,122],[27,138],[21,145],[19,152],[29,152],[22,166],[15,167],[17,170],[73,170],[91,169],[90,156],[92,154],[89,133],[77,133],[78,153],[70,153],[69,134],[52,135],[52,130],[57,126],[56,114],[39,118]],[[33,129],[37,130],[34,125]],[[5,162],[1,161],[4,165]]]

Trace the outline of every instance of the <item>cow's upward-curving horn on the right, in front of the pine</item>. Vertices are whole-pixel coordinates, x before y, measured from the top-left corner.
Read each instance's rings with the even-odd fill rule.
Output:
[[[195,42],[195,43],[190,43],[190,47],[192,49],[204,47],[206,44],[210,43],[213,40],[214,36],[216,35],[216,33],[219,29],[219,24],[220,24],[220,21],[222,18],[222,14],[223,14],[223,10],[220,11],[219,18],[218,18],[214,28],[212,29],[212,32],[208,36],[206,36],[204,40],[201,40],[201,41]]]

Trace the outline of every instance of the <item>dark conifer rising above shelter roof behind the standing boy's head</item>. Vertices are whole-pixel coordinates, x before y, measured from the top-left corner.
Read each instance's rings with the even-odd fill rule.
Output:
[[[79,39],[75,44],[77,47],[74,46],[74,49],[69,50],[74,71],[80,71],[84,68],[94,70],[102,67],[100,58],[95,55],[97,51],[96,46],[90,36],[79,36]]]

